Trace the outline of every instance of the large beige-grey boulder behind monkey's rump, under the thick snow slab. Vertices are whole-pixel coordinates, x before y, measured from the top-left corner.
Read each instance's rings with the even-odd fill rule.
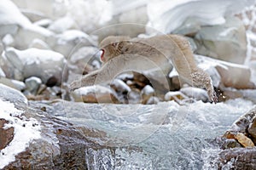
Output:
[[[243,64],[247,54],[247,37],[241,20],[228,18],[221,26],[203,26],[195,35],[197,54]]]

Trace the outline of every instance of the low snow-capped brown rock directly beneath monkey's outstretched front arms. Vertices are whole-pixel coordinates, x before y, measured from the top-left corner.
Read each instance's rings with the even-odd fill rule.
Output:
[[[117,95],[109,88],[100,85],[79,88],[72,93],[76,102],[119,103]]]

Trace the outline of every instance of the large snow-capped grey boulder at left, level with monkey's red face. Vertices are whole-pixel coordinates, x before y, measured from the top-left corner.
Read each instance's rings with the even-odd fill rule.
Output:
[[[23,81],[27,77],[39,77],[44,83],[55,78],[55,84],[61,84],[67,80],[67,74],[63,72],[66,59],[62,54],[29,48],[18,50],[8,48],[4,53],[13,67],[14,78]]]

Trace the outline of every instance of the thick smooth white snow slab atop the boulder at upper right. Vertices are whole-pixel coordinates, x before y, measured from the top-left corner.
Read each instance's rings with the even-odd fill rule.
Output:
[[[184,22],[194,28],[224,24],[226,16],[253,3],[254,0],[152,0],[148,3],[148,26],[170,33],[177,31]]]

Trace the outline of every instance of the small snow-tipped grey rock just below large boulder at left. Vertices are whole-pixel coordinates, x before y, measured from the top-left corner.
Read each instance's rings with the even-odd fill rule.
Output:
[[[41,85],[42,81],[38,77],[29,77],[26,78],[26,90],[28,90],[31,94],[36,95],[38,94],[38,89]]]

